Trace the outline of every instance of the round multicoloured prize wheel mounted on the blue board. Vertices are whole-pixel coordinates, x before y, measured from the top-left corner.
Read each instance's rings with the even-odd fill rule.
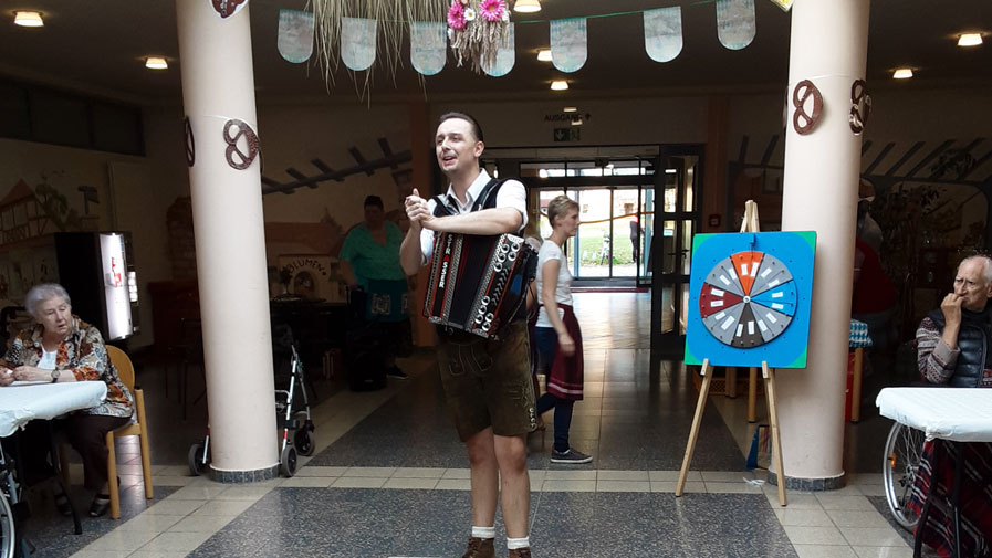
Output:
[[[789,267],[764,252],[738,252],[720,261],[699,293],[699,315],[720,343],[760,347],[785,333],[796,312]]]

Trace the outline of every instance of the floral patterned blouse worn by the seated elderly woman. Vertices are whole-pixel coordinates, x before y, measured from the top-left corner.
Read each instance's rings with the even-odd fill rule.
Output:
[[[42,356],[41,336],[43,326],[35,324],[21,330],[10,341],[3,366],[38,366]],[[72,331],[56,349],[55,368],[70,371],[76,381],[103,381],[107,385],[107,398],[101,404],[79,411],[84,414],[102,414],[106,417],[130,417],[134,412],[134,397],[117,377],[117,369],[107,357],[107,348],[103,344],[100,329],[83,322],[79,316],[72,317]]]

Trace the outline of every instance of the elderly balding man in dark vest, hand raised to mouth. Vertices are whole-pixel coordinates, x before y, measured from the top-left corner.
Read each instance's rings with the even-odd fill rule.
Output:
[[[965,257],[958,266],[954,291],[944,296],[917,329],[920,376],[929,383],[958,388],[992,388],[992,259]],[[923,446],[919,473],[908,507],[919,514],[930,495],[930,516],[923,543],[940,556],[953,548],[953,518],[948,512],[948,487],[953,485],[954,464],[963,453],[961,486],[961,549],[964,556],[992,556],[992,444]],[[932,493],[931,493],[932,492]]]

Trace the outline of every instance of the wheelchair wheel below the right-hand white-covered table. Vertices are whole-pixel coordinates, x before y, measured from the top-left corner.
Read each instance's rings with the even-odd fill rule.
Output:
[[[912,484],[920,466],[926,436],[919,430],[905,424],[895,423],[885,442],[885,456],[881,465],[885,499],[896,523],[912,533],[920,516],[910,510],[906,504],[912,495]]]

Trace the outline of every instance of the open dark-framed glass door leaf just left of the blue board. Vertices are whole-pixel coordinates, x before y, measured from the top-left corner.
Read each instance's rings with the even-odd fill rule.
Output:
[[[655,173],[652,234],[646,240],[651,281],[651,364],[680,357],[686,345],[692,236],[699,229],[701,147],[671,148]],[[647,206],[647,204],[646,204]]]

